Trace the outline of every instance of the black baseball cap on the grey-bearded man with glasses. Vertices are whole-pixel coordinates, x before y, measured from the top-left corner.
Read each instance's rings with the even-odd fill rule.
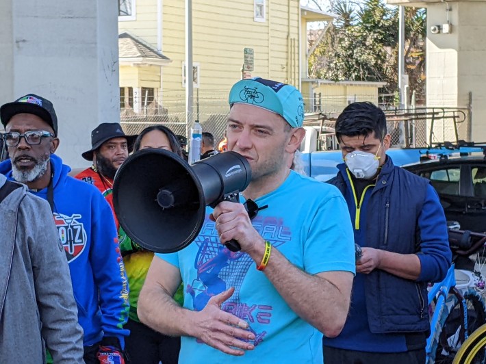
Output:
[[[6,103],[0,107],[0,119],[5,128],[10,119],[16,114],[33,114],[47,122],[57,137],[57,116],[51,101],[36,94],[27,94],[13,103]]]

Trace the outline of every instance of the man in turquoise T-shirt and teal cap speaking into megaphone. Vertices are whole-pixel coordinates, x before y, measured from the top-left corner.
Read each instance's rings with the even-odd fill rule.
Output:
[[[322,333],[340,333],[355,273],[346,203],[334,186],[287,167],[305,135],[296,88],[244,79],[229,105],[228,149],[251,166],[246,209],[208,208],[192,244],[156,254],[138,315],[182,337],[180,363],[322,363]],[[240,251],[224,245],[232,239]],[[172,300],[181,280],[183,307]]]

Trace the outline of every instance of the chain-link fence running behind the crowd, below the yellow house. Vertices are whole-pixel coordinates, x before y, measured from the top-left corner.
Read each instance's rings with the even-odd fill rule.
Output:
[[[337,148],[333,138],[337,116],[348,103],[372,101],[369,95],[322,96],[316,112],[316,99],[305,99],[305,125],[318,129],[318,149]],[[138,134],[151,125],[162,124],[177,135],[187,137],[191,125],[186,124],[186,95],[168,92],[162,102],[153,101],[142,107],[139,113],[129,107],[122,109],[121,124],[125,133]],[[385,107],[387,131],[392,135],[392,146],[425,147],[441,142],[470,141],[470,109],[467,107],[416,107],[392,109]],[[212,94],[194,96],[192,120],[199,120],[203,131],[214,135],[216,145],[223,138],[229,114],[227,95],[215,91]]]

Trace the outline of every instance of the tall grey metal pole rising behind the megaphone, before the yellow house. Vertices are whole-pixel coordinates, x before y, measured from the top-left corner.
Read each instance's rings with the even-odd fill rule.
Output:
[[[186,0],[186,136],[192,126],[192,0]]]

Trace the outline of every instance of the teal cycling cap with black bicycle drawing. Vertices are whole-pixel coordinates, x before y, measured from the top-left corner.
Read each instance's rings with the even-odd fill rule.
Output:
[[[270,79],[242,79],[229,92],[229,105],[248,103],[282,116],[291,127],[301,127],[304,120],[302,94],[294,88]]]

